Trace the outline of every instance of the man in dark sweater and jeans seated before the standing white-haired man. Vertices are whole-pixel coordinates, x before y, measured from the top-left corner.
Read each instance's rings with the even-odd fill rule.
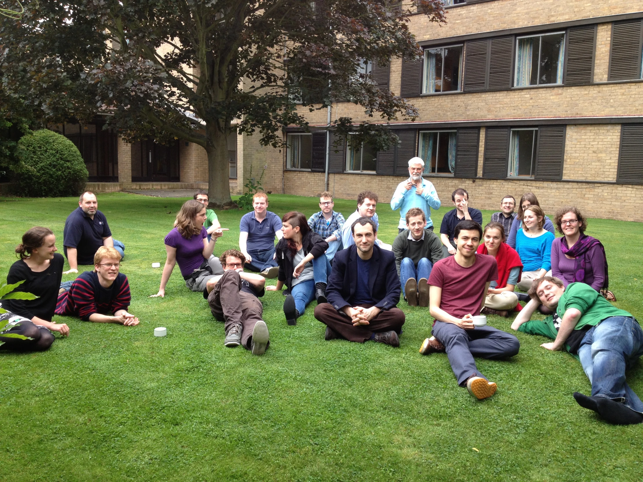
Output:
[[[420,208],[406,211],[406,229],[393,242],[395,265],[402,283],[404,299],[412,307],[428,307],[427,281],[433,264],[441,260],[442,243],[426,228],[426,215]],[[419,293],[418,293],[419,291]]]

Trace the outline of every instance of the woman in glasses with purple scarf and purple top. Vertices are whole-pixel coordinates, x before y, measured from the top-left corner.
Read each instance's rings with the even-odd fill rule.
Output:
[[[608,288],[605,248],[599,240],[585,234],[587,222],[577,208],[559,209],[554,222],[562,238],[552,242],[552,276],[565,283],[590,285],[610,301],[616,301]]]

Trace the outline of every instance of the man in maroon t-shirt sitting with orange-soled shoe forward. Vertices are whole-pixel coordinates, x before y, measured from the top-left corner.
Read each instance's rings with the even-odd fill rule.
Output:
[[[451,369],[458,385],[467,386],[478,400],[496,393],[496,384],[489,382],[476,367],[473,357],[500,359],[518,353],[518,338],[492,326],[473,326],[473,316],[484,306],[489,283],[498,278],[493,256],[478,254],[482,237],[480,224],[464,220],[455,228],[457,251],[433,265],[429,276],[429,299],[433,335],[444,344]],[[437,341],[426,339],[420,353],[440,351]]]

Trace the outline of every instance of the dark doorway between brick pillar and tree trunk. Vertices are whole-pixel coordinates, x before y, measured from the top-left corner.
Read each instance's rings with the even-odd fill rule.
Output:
[[[132,144],[132,182],[179,181],[179,143],[162,145],[154,139]]]

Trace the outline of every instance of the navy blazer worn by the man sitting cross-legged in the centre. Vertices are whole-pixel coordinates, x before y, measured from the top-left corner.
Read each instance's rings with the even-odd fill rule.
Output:
[[[395,267],[395,254],[373,246],[368,273],[368,289],[375,301],[375,306],[389,310],[400,300],[402,287]],[[358,282],[358,248],[356,245],[342,249],[335,254],[332,262],[331,276],[326,288],[326,298],[336,310],[352,307],[352,298]]]

